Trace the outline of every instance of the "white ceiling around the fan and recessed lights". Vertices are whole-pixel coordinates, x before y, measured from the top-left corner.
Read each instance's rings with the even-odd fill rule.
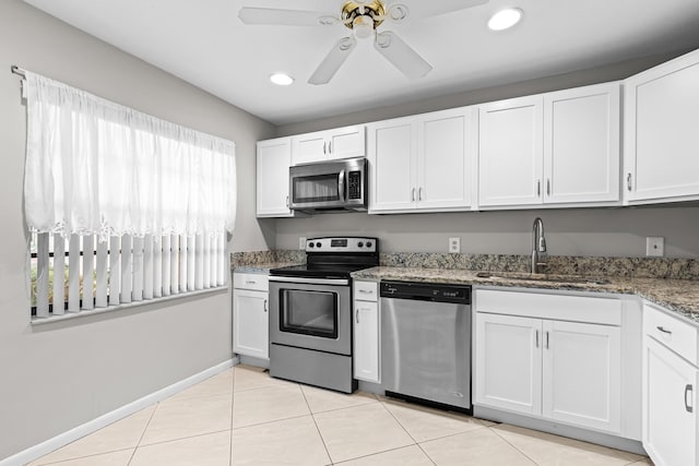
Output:
[[[408,81],[365,41],[329,84],[313,86],[306,81],[348,29],[249,26],[238,9],[339,12],[343,0],[25,1],[275,124],[699,47],[697,0],[490,0],[381,26],[434,65],[426,77]],[[420,1],[439,0],[401,0]],[[522,9],[522,22],[489,31],[488,17],[505,7]],[[296,82],[271,84],[277,71]]]

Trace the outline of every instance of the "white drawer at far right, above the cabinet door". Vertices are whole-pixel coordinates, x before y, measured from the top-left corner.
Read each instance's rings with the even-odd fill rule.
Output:
[[[651,303],[643,303],[643,333],[677,353],[692,365],[698,365],[697,327],[675,319]]]

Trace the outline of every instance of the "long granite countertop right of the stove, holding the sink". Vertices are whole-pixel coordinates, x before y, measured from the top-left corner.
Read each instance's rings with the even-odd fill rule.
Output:
[[[512,272],[387,266],[354,272],[352,276],[356,279],[394,279],[638,295],[699,325],[699,280],[553,274],[533,277],[530,274]]]

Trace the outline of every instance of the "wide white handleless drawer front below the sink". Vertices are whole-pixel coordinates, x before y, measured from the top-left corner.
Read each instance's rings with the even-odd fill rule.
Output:
[[[476,312],[558,321],[621,325],[621,301],[615,298],[478,289]]]

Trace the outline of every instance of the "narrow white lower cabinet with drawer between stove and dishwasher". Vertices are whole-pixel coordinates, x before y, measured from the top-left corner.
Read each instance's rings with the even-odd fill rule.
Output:
[[[379,302],[376,282],[354,283],[354,377],[380,382]]]

